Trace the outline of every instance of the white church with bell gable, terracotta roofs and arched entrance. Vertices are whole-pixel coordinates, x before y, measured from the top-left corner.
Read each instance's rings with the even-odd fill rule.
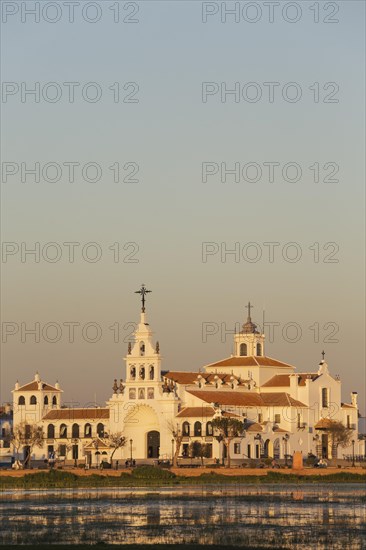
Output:
[[[193,441],[206,443],[211,459],[224,460],[226,449],[212,426],[214,418],[240,420],[243,431],[230,442],[236,463],[263,458],[287,459],[295,451],[335,458],[352,448],[332,445],[329,423],[342,422],[358,440],[357,393],[341,402],[341,381],[324,360],[315,371],[265,354],[265,336],[250,315],[234,335],[234,353],[194,372],[162,370],[160,346],[147,321],[143,286],[140,320],[128,345],[125,379],[115,379],[105,407],[64,408],[62,390],[39,374],[13,390],[14,428],[41,426],[42,447],[32,448],[32,460],[58,460],[90,466],[103,461],[171,460],[189,454]],[[126,444],[115,441],[123,436]],[[178,443],[179,439],[179,443]],[[362,449],[361,449],[362,446]],[[26,449],[18,449],[20,457]]]

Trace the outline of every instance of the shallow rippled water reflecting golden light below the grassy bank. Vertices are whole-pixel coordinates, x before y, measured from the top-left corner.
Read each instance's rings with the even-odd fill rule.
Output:
[[[366,548],[362,485],[4,490],[0,544]]]

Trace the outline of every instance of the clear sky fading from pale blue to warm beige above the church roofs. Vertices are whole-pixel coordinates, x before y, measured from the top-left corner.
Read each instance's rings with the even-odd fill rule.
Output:
[[[1,400],[38,369],[103,403],[145,283],[164,369],[250,300],[364,413],[364,3],[36,4],[2,2]]]

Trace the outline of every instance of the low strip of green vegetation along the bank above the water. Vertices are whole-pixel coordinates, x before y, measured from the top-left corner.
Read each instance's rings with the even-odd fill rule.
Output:
[[[365,476],[351,472],[336,472],[329,475],[284,474],[269,470],[265,476],[227,476],[219,472],[203,473],[197,477],[178,476],[156,466],[138,466],[132,473],[121,472],[120,476],[78,476],[62,470],[50,470],[24,475],[23,477],[0,477],[0,488],[73,488],[73,487],[166,487],[184,485],[232,485],[266,483],[365,483]]]

